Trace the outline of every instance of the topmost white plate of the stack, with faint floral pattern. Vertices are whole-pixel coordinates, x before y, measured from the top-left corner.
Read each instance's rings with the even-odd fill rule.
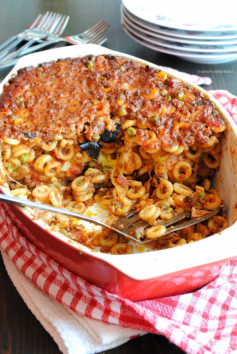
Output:
[[[134,16],[158,26],[201,32],[228,32],[237,30],[236,12],[230,0],[199,0],[192,6],[189,0],[177,4],[169,0],[168,4],[157,0],[122,0],[123,5]],[[167,6],[168,5],[168,6]],[[232,11],[228,11],[228,7]],[[188,20],[187,20],[188,19]]]

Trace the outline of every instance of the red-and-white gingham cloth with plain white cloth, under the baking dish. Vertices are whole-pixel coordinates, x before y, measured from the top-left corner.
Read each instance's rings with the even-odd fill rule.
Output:
[[[237,98],[211,91],[237,123]],[[146,332],[190,354],[237,353],[237,259],[193,293],[132,302],[99,289],[32,245],[0,208],[0,248],[13,284],[64,354],[98,353]]]

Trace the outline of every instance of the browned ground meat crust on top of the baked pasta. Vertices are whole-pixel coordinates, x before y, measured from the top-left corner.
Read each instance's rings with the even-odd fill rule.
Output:
[[[0,96],[0,136],[38,142],[84,131],[88,140],[114,121],[137,120],[138,143],[146,130],[155,145],[201,145],[225,122],[213,103],[192,86],[159,76],[159,70],[121,57],[89,55],[22,68]],[[184,122],[184,127],[175,126]],[[153,142],[154,145],[154,142]]]

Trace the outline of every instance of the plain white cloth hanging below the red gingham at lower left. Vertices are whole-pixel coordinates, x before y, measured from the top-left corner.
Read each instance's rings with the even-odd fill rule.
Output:
[[[146,333],[94,320],[68,309],[27,279],[3,250],[1,253],[17,291],[63,354],[103,352]]]

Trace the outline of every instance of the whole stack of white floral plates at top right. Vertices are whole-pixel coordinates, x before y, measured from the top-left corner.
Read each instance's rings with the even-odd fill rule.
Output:
[[[194,63],[237,59],[232,0],[122,0],[121,23],[140,44]]]

